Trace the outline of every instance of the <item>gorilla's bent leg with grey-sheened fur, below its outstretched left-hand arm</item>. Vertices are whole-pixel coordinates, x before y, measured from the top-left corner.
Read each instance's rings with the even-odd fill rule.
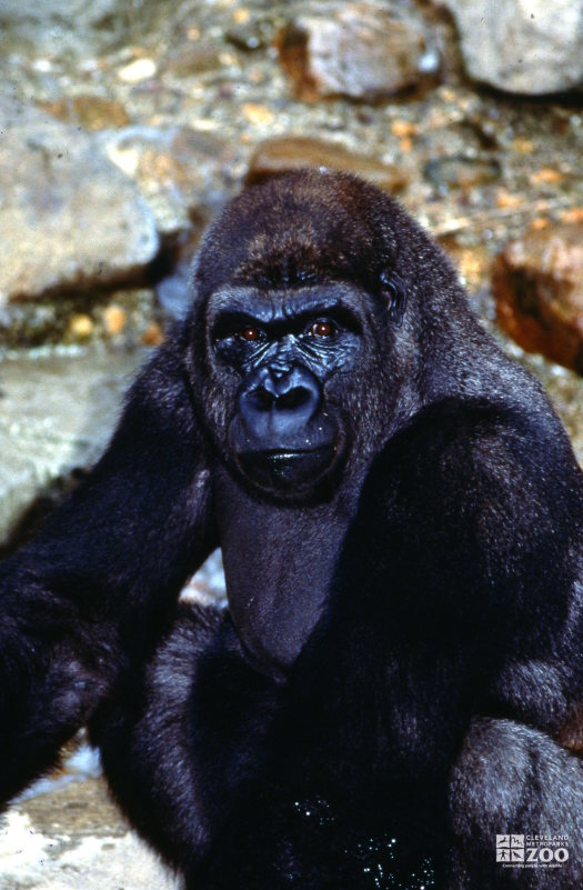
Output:
[[[134,827],[203,887],[201,862],[217,852],[222,870],[224,827],[240,811],[243,824],[251,818],[245,801],[264,786],[285,687],[249,663],[228,610],[190,602],[135,667],[96,712],[91,738]]]

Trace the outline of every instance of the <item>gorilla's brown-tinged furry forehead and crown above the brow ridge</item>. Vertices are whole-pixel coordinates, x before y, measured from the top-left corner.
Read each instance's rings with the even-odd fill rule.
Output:
[[[252,186],[204,239],[197,290],[204,299],[227,282],[281,289],[326,279],[374,288],[391,261],[393,216],[403,214],[390,198],[346,173],[303,170]]]

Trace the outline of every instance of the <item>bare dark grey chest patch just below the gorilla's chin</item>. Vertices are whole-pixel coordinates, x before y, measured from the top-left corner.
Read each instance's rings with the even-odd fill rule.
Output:
[[[349,517],[253,502],[230,480],[218,486],[229,609],[243,644],[284,668],[320,618]]]

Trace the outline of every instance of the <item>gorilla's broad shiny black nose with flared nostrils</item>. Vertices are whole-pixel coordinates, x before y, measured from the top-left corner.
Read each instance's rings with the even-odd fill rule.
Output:
[[[240,396],[239,410],[245,424],[280,432],[299,428],[313,418],[321,403],[320,383],[306,369],[284,373],[260,369],[248,380]]]

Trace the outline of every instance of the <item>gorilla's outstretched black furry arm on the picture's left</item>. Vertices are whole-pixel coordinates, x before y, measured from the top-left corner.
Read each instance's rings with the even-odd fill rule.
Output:
[[[89,478],[0,567],[0,803],[147,656],[215,546],[184,340],[158,351]]]

